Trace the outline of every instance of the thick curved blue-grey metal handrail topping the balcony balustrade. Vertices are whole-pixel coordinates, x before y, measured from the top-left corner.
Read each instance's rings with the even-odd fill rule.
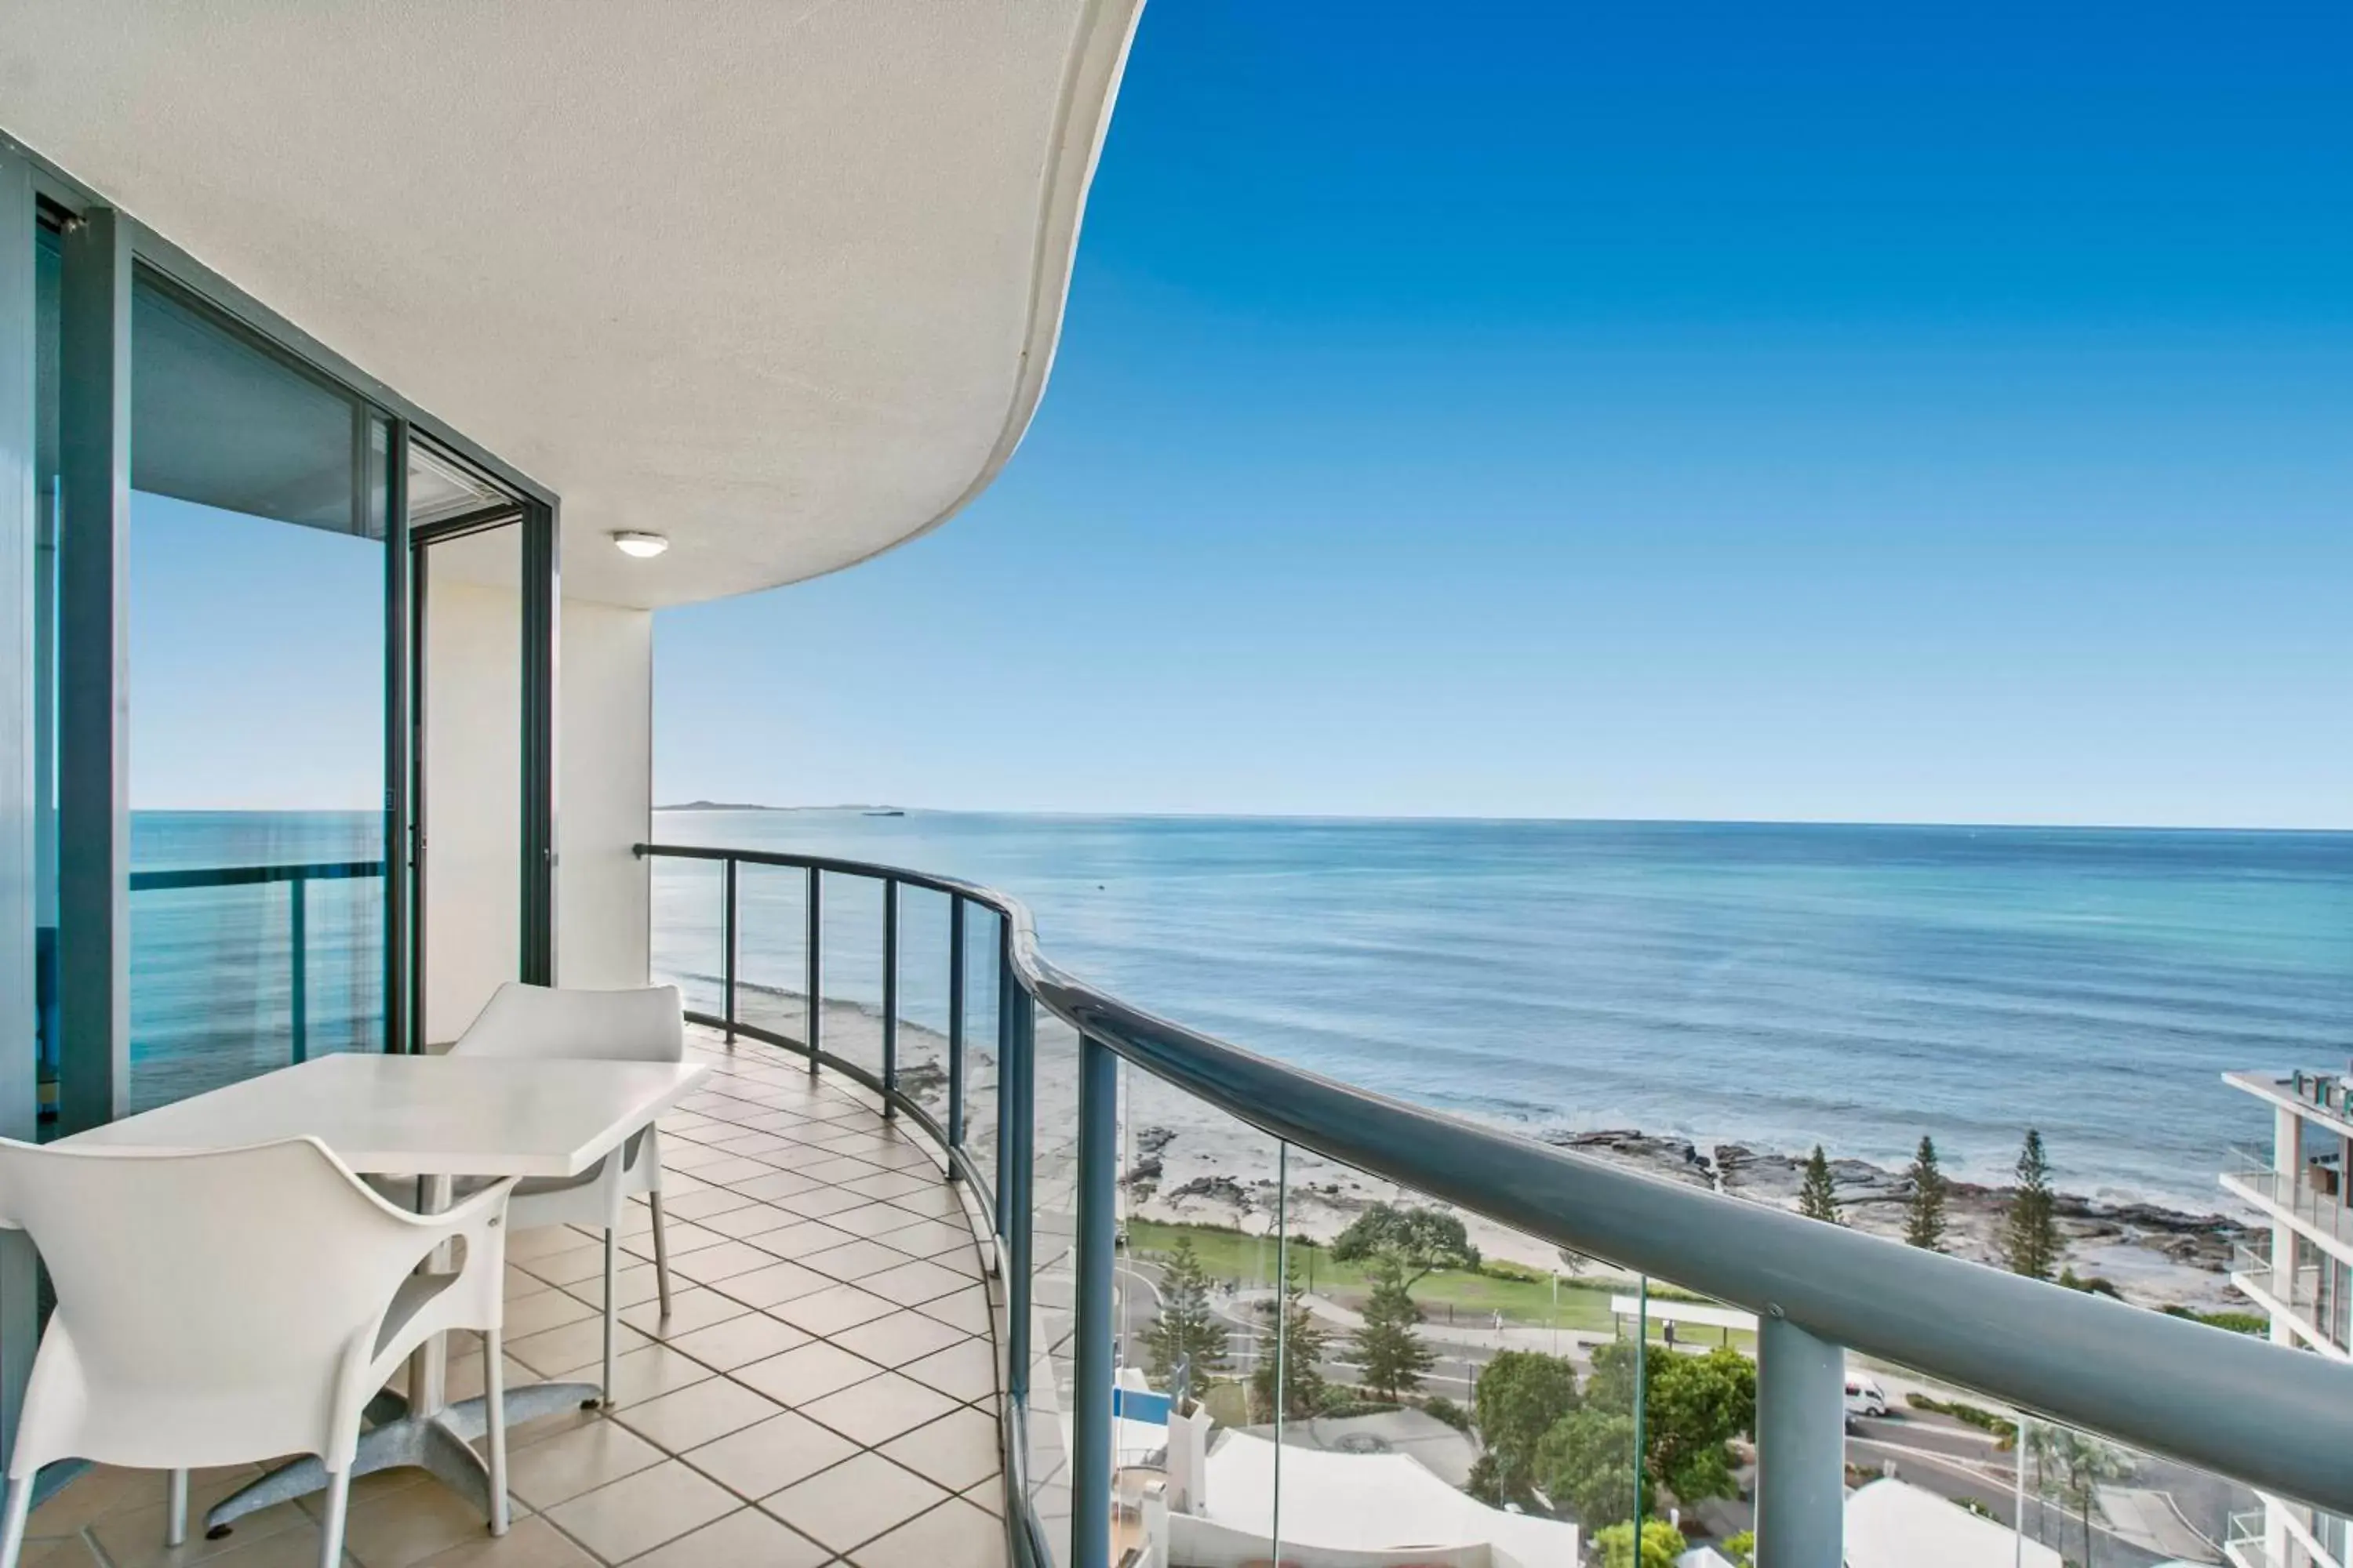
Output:
[[[2344,1465],[2353,1366],[1704,1192],[1257,1056],[1064,971],[1042,954],[1028,907],[974,882],[786,851],[638,849],[967,898],[1005,919],[1007,969],[1045,1011],[1273,1138],[1732,1302],[1769,1333],[1798,1328],[2042,1420],[2353,1512],[2353,1467]],[[1000,1126],[1000,1143],[1007,1135],[1019,1131]],[[2282,1432],[2297,1439],[2280,1441]]]

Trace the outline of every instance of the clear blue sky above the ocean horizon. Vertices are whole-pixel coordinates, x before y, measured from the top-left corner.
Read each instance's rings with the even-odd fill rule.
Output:
[[[2353,12],[1160,0],[1005,477],[661,799],[2353,823]]]

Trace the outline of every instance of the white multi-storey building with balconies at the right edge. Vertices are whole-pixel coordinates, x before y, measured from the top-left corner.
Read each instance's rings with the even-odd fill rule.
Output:
[[[2275,1345],[2353,1361],[2353,1086],[2334,1072],[2226,1072],[2221,1081],[2271,1107],[2271,1147],[2240,1150],[2224,1192],[2264,1215],[2271,1234],[2240,1248],[2231,1284],[2271,1316]],[[2348,1568],[2346,1521],[2264,1497],[2233,1521],[2224,1547],[2238,1568]]]

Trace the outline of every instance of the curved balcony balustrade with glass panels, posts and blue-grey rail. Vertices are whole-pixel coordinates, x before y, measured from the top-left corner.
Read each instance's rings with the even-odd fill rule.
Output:
[[[2137,1509],[2165,1512],[2134,1502],[2151,1490],[2214,1505],[2191,1521],[2205,1540],[2254,1486],[2353,1497],[2325,1460],[2353,1441],[2353,1373],[2327,1361],[1289,1070],[1056,969],[1026,910],[991,889],[769,851],[642,853],[666,912],[656,966],[687,987],[689,1018],[882,1095],[981,1201],[1012,1561],[1581,1559],[1633,1512],[1631,1439],[1602,1465],[1619,1483],[1499,1509],[1471,1495],[1482,1448],[1447,1408],[1471,1403],[1504,1352],[1560,1356],[1598,1408],[1612,1368],[1631,1363],[1640,1389],[1645,1359],[1708,1349],[1640,1305],[1628,1324],[1612,1295],[1697,1295],[1758,1321],[1753,1446],[1725,1450],[1729,1495],[1697,1497],[1685,1519],[1718,1537],[1755,1523],[1767,1561],[1840,1561],[1835,1500],[1857,1469],[1892,1465],[1955,1519],[2009,1519],[2014,1472],[1979,1453],[1988,1403],[2035,1418],[2038,1486],[2085,1453],[2132,1481],[2113,1514],[2094,1509],[2097,1530],[2080,1526],[2099,1540],[2137,1540]],[[746,926],[795,933],[798,957],[748,973]],[[1409,1284],[1384,1286],[1402,1258],[1388,1244],[1351,1251],[1346,1232],[1369,1218],[1438,1237]],[[1464,1244],[1482,1258],[1445,1255]],[[1553,1267],[1565,1251],[1612,1272],[1602,1307],[1595,1281]],[[1372,1333],[1379,1302],[1400,1298],[1393,1326],[1421,1345],[1402,1371],[1377,1366]],[[1748,1363],[1751,1342],[1715,1354]],[[1889,1422],[1908,1392],[1941,1389],[1962,1415],[1847,1436],[1849,1366],[1894,1389]],[[2275,1441],[2282,1429],[2301,1439]],[[1607,1448],[1607,1432],[1588,1436]],[[2080,1509],[2054,1495],[2031,1519],[2047,1521],[2045,1547],[2080,1556],[2064,1535],[2078,1526],[2049,1523]]]

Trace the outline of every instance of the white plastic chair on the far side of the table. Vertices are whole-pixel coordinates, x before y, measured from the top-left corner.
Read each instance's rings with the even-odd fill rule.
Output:
[[[449,1056],[529,1060],[675,1063],[687,1056],[687,1016],[675,985],[640,990],[558,990],[508,980],[466,1025]],[[645,1194],[654,1208],[654,1291],[671,1316],[671,1241],[661,1215],[661,1135],[647,1126],[588,1171],[567,1180],[525,1178],[508,1225],[595,1225],[605,1232],[605,1401],[612,1403],[614,1248],[624,1206]],[[5,1568],[5,1566],[0,1566]]]

